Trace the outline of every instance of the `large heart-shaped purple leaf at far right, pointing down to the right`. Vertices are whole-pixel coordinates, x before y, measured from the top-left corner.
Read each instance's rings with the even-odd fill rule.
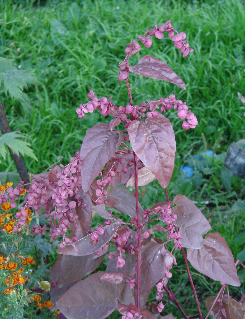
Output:
[[[187,259],[197,271],[213,280],[236,287],[241,285],[232,252],[219,233],[207,234],[203,248],[189,248]]]

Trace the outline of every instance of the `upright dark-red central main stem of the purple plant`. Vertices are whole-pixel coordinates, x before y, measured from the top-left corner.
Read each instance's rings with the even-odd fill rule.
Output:
[[[129,87],[129,80],[126,78],[126,85],[129,94],[130,105],[133,106],[132,94]],[[130,119],[133,120],[132,114],[130,114]],[[138,259],[137,259],[137,308],[140,314],[140,264],[141,264],[141,227],[140,227],[140,217],[139,217],[139,189],[138,189],[138,168],[136,154],[134,152],[134,174],[135,174],[135,193],[136,193],[136,216],[137,216],[137,236],[138,236]]]

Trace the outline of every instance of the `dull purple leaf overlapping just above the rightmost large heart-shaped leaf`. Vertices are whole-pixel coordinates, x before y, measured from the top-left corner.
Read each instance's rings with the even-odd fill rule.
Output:
[[[199,249],[204,246],[202,235],[211,230],[206,218],[196,205],[184,195],[176,195],[173,202],[177,205],[172,213],[177,215],[174,222],[179,227],[182,247]]]

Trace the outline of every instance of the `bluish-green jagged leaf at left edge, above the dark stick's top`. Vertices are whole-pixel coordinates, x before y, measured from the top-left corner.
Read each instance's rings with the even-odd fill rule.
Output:
[[[9,92],[11,98],[21,100],[24,87],[27,85],[38,84],[39,81],[24,70],[7,70],[0,72],[0,84],[3,81],[5,94]]]

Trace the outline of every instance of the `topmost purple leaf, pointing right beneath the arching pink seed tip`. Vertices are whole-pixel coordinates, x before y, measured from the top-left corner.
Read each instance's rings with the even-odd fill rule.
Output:
[[[143,58],[139,60],[138,64],[135,66],[129,66],[129,71],[137,75],[142,75],[146,78],[164,80],[176,84],[181,89],[186,90],[185,83],[178,77],[178,75],[165,63],[153,56],[143,56]]]

